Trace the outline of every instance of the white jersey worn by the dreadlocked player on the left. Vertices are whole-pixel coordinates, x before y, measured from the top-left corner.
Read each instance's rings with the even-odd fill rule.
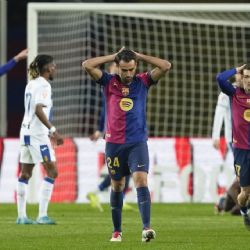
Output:
[[[48,136],[49,134],[48,128],[35,114],[37,104],[45,106],[43,107],[43,111],[49,120],[52,109],[51,86],[50,83],[43,77],[38,77],[29,81],[25,88],[25,113],[20,131],[21,138],[24,135]]]

